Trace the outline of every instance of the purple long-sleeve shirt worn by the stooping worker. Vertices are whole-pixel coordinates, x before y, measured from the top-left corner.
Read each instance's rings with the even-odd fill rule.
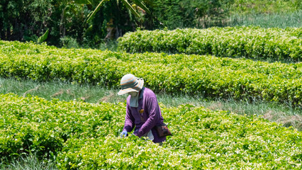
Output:
[[[131,132],[135,128],[135,130],[138,130],[138,137],[142,137],[142,135],[152,130],[153,142],[164,142],[166,137],[159,137],[155,130],[155,125],[161,125],[162,123],[164,123],[164,118],[162,118],[160,106],[158,106],[157,98],[152,90],[146,87],[142,88],[138,99],[138,108],[130,107],[130,96],[128,96],[123,130]]]

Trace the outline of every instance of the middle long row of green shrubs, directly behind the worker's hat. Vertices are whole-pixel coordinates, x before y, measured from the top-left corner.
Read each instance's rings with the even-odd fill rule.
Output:
[[[20,42],[7,42],[9,47]],[[278,101],[302,106],[302,63],[281,64],[199,55],[144,53],[130,55],[99,50],[31,49],[0,51],[0,76],[99,84],[120,88],[124,74],[145,79],[145,86],[170,94],[208,98]],[[22,45],[21,45],[22,46]],[[5,47],[1,47],[5,49]],[[39,52],[33,52],[38,49]],[[26,52],[29,51],[29,55]],[[36,51],[36,50],[35,50]]]

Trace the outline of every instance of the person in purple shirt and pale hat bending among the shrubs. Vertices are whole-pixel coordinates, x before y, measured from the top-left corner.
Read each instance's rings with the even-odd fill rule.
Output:
[[[144,80],[138,79],[133,74],[126,74],[121,79],[121,91],[118,92],[118,95],[129,95],[121,137],[126,137],[128,132],[135,128],[133,135],[145,136],[147,140],[162,145],[166,137],[160,137],[155,126],[163,125],[164,118],[162,118],[154,92],[143,85]]]

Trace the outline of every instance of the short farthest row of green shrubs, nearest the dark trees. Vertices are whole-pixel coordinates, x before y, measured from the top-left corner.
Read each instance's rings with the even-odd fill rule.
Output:
[[[302,28],[227,27],[138,30],[118,38],[126,52],[302,61]]]

